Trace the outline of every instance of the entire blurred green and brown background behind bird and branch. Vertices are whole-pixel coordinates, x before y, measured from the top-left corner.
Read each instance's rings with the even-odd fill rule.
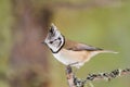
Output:
[[[0,0],[0,87],[68,87],[65,66],[40,44],[51,23],[66,38],[119,52],[94,57],[78,77],[130,67],[129,0]],[[92,84],[129,87],[130,76]]]

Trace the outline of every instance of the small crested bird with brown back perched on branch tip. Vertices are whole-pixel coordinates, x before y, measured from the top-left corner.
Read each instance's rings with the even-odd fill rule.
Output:
[[[99,53],[118,53],[104,50],[87,44],[77,42],[65,38],[65,36],[52,23],[46,39],[42,41],[51,50],[54,58],[64,65],[80,69],[86,62]]]

